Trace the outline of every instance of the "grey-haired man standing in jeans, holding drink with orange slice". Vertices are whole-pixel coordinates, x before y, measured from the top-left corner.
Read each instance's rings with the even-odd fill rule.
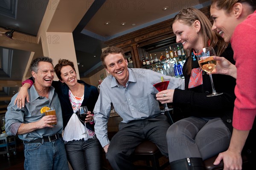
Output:
[[[51,86],[54,78],[52,59],[36,58],[31,63],[35,84],[29,92],[29,102],[22,108],[12,97],[6,112],[6,133],[18,135],[24,143],[25,170],[69,170],[62,140],[63,121],[57,93]],[[40,112],[42,107],[55,107],[55,115]],[[57,121],[58,118],[58,121]],[[55,126],[49,125],[56,123]]]

